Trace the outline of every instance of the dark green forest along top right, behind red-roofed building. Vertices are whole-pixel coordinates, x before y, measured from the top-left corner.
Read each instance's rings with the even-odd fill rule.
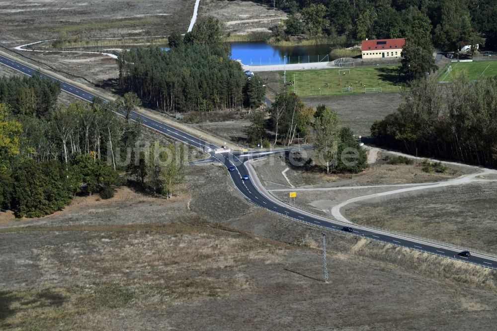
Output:
[[[275,34],[344,36],[348,40],[401,38],[417,17],[428,18],[434,46],[455,51],[460,41],[486,40],[497,49],[495,0],[254,0],[288,11]]]

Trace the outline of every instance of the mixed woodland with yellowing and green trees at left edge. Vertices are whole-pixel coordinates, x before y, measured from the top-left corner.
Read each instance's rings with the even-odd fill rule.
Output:
[[[136,150],[141,124],[129,116],[139,103],[136,95],[115,103],[57,105],[60,85],[37,75],[0,78],[0,91],[1,209],[17,217],[44,216],[63,209],[76,194],[112,197],[113,187],[126,180],[119,170],[137,173],[130,152]],[[173,162],[160,164],[154,157],[142,184],[169,197],[184,180],[183,152],[157,147],[143,155],[167,150]]]

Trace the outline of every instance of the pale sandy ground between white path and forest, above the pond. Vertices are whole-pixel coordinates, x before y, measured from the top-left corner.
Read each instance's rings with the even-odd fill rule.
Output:
[[[214,16],[224,23],[231,34],[267,31],[287,18],[287,13],[250,1],[202,0],[199,17]]]

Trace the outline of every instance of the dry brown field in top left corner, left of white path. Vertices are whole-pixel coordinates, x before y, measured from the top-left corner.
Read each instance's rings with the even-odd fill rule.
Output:
[[[184,33],[194,3],[194,0],[0,0],[0,43],[18,46],[57,38],[62,31],[81,37],[168,35],[173,30]]]

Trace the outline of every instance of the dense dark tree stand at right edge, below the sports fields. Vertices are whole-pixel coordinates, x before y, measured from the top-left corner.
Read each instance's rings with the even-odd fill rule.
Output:
[[[496,166],[497,79],[461,74],[454,82],[414,81],[398,111],[373,124],[372,135],[406,153]]]

